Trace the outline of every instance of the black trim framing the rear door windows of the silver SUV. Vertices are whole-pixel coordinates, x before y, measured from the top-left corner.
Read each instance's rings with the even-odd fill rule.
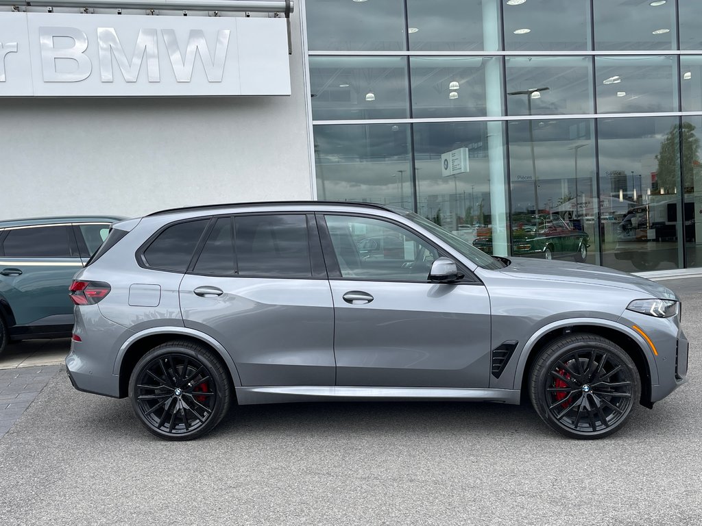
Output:
[[[270,276],[270,274],[245,274],[241,275],[239,274],[239,259],[237,258],[237,250],[236,250],[236,238],[237,238],[237,229],[236,229],[236,219],[237,217],[251,217],[251,216],[272,216],[272,215],[302,215],[305,216],[305,227],[307,230],[307,250],[309,251],[309,257],[310,257],[310,274],[311,276]],[[198,243],[197,249],[195,250],[194,257],[190,261],[190,265],[187,267],[187,271],[185,274],[189,274],[191,276],[204,276],[208,278],[255,278],[255,279],[312,279],[312,280],[326,280],[328,279],[327,274],[326,274],[326,265],[324,265],[324,252],[322,250],[321,246],[321,241],[319,241],[319,232],[317,232],[316,228],[312,228],[312,225],[314,227],[317,226],[316,222],[314,222],[314,213],[313,212],[307,212],[304,210],[260,210],[256,212],[248,212],[248,213],[229,213],[229,214],[223,214],[223,215],[213,215],[211,217],[211,224],[208,225],[208,228],[206,228],[206,232],[201,239],[200,242]],[[199,259],[202,249],[204,248],[204,245],[207,241],[207,238],[209,234],[211,233],[212,229],[214,228],[214,225],[216,224],[217,220],[220,218],[225,218],[229,217],[230,220],[232,221],[232,242],[234,243],[234,268],[236,269],[237,274],[211,274],[211,273],[203,273],[203,272],[196,272],[194,271],[195,266],[197,265],[197,260]],[[310,219],[312,217],[312,219]],[[313,246],[314,244],[314,239],[317,239],[317,243],[319,244],[319,247],[315,248]],[[316,259],[316,261],[315,261]],[[324,269],[322,271],[321,269]],[[319,275],[315,275],[319,274]]]

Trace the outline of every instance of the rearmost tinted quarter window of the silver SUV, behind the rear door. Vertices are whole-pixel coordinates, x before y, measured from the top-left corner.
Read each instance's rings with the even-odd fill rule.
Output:
[[[185,272],[208,222],[209,219],[177,223],[161,231],[144,251],[146,264],[157,269]]]

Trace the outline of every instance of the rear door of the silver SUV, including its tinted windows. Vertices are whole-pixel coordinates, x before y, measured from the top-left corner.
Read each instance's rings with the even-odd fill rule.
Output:
[[[216,218],[180,305],[186,327],[230,352],[242,385],[334,384],[333,306],[313,215]]]

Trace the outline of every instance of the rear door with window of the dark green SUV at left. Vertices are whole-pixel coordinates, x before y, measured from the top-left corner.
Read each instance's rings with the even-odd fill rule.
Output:
[[[72,325],[68,288],[83,263],[70,224],[8,228],[0,240],[0,295],[15,323]]]

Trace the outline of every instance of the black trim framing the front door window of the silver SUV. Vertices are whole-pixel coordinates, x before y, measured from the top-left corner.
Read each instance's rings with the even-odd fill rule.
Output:
[[[461,262],[460,259],[458,259],[456,256],[452,255],[451,253],[447,252],[443,248],[437,246],[437,244],[427,238],[427,236],[423,235],[416,229],[412,229],[411,227],[408,227],[406,224],[399,222],[397,220],[394,220],[390,217],[384,217],[384,216],[377,216],[377,215],[370,215],[370,214],[363,214],[363,213],[351,213],[351,212],[343,212],[343,211],[334,211],[334,212],[319,212],[317,213],[319,217],[317,217],[317,224],[319,225],[319,234],[322,237],[322,247],[324,248],[324,259],[327,262],[327,272],[329,273],[329,279],[330,280],[343,280],[343,281],[378,281],[381,283],[435,283],[434,281],[430,281],[429,279],[422,281],[422,280],[409,280],[409,279],[383,279],[383,278],[351,278],[351,277],[344,277],[341,275],[341,267],[339,266],[338,259],[336,258],[336,252],[334,251],[333,243],[331,241],[331,234],[329,234],[329,227],[326,225],[326,216],[328,215],[338,215],[342,217],[364,217],[366,219],[373,219],[373,220],[378,220],[378,221],[385,221],[388,223],[392,223],[397,225],[398,227],[402,227],[405,230],[411,231],[412,234],[417,236],[421,241],[424,243],[427,243],[430,247],[435,248],[437,250],[437,253],[439,254],[439,257],[449,257],[452,259],[454,262],[456,262],[456,267],[458,268],[458,272],[463,274],[463,278],[461,278],[458,281],[454,281],[450,283],[451,285],[481,285],[484,286],[484,283],[482,280],[476,276],[476,274],[465,267],[465,265]],[[436,283],[435,283],[436,284]]]

